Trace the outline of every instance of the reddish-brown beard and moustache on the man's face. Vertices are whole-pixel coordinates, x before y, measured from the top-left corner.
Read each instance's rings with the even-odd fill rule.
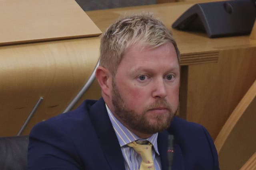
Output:
[[[172,111],[171,105],[165,99],[159,99],[146,106],[142,113],[137,113],[126,105],[127,102],[122,98],[114,80],[112,80],[112,95],[116,118],[128,129],[133,129],[143,134],[152,135],[166,130],[177,112],[177,110]],[[154,115],[154,121],[152,122],[148,117],[148,111],[157,107],[165,107],[168,113]]]

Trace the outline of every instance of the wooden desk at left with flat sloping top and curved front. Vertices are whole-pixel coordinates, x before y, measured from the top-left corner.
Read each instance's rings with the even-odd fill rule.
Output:
[[[44,98],[25,135],[62,113],[80,90],[100,44],[98,37],[83,37],[101,31],[74,0],[1,0],[0,21],[0,136],[17,135]]]

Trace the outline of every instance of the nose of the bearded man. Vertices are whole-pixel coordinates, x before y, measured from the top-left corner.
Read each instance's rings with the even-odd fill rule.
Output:
[[[157,80],[154,82],[154,90],[152,91],[153,98],[165,98],[167,96],[166,85],[164,80]]]

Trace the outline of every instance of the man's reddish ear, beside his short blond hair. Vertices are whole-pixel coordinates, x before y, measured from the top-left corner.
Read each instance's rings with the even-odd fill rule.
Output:
[[[112,74],[105,67],[98,66],[95,76],[100,84],[102,92],[109,97],[112,90]]]

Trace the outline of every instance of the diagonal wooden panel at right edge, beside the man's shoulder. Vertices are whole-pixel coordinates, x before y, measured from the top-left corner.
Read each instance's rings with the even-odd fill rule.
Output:
[[[215,140],[220,169],[239,170],[256,152],[256,80]]]

